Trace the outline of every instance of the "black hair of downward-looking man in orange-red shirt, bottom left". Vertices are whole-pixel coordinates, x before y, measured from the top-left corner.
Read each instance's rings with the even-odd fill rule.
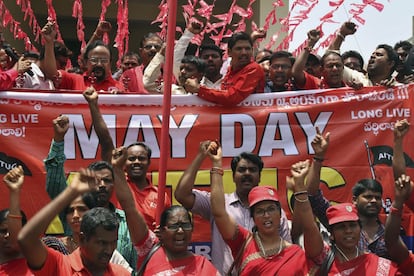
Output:
[[[116,213],[103,207],[92,208],[83,215],[80,231],[88,240],[96,233],[96,228],[99,226],[102,226],[106,231],[117,230],[119,220]]]

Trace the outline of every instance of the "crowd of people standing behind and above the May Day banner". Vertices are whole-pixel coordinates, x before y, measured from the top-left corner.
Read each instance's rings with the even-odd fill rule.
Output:
[[[49,21],[42,29],[44,47],[40,54],[26,52],[13,59],[7,55],[10,51],[0,50],[0,89],[84,91],[93,86],[98,91],[118,94],[164,93],[166,43],[157,34],[148,33],[137,53],[125,53],[120,67],[112,74],[111,49],[102,41],[111,28],[109,22],[99,22],[86,47],[81,49],[79,66],[67,68],[72,51],[55,40],[56,26]],[[306,46],[294,57],[287,51],[259,50],[257,40],[266,37],[262,29],[250,35],[234,33],[228,38],[225,51],[204,42],[197,55],[186,55],[192,38],[202,29],[199,21],[190,19],[176,41],[173,95],[196,94],[204,100],[231,106],[253,93],[347,86],[359,89],[411,83],[414,79],[414,48],[409,41],[399,41],[394,47],[378,45],[366,64],[357,51],[341,54],[341,44],[357,30],[352,22],[340,27],[322,57],[312,53],[321,36],[318,30],[308,32]]]

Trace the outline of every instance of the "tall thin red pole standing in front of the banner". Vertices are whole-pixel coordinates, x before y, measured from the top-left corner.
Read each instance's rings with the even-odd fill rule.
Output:
[[[173,76],[173,55],[175,42],[175,27],[177,20],[177,1],[168,0],[168,22],[167,22],[167,48],[165,51],[164,66],[164,96],[162,109],[161,146],[157,201],[157,224],[160,223],[161,213],[164,210],[165,182],[167,174],[167,160],[169,153],[169,129],[170,129],[170,107],[171,107],[171,85]]]

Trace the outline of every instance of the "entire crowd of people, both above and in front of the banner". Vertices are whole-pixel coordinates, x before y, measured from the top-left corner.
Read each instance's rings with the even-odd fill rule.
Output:
[[[320,190],[320,173],[331,139],[316,129],[314,155],[291,165],[286,186],[293,192],[289,221],[278,191],[259,186],[264,163],[252,152],[231,161],[236,190],[224,193],[222,149],[217,141],[200,142],[174,192],[181,205],[165,195],[156,224],[158,188],[147,177],[151,148],[135,142],[117,148],[99,109],[99,93],[162,94],[165,44],[156,34],[141,41],[139,52],[126,53],[111,73],[111,51],[101,38],[111,29],[99,22],[83,50],[80,68],[66,68],[71,51],[55,41],[54,22],[42,29],[44,49],[37,58],[25,53],[15,63],[1,63],[1,89],[63,89],[82,91],[101,146],[101,160],[83,168],[66,183],[64,137],[69,119],[52,123],[53,138],[45,156],[45,189],[51,201],[27,221],[20,208],[24,184],[21,167],[3,178],[9,190],[8,209],[0,211],[0,275],[410,275],[414,255],[400,237],[402,209],[414,206],[414,183],[406,174],[403,140],[410,125],[394,127],[395,199],[386,224],[378,219],[382,185],[361,179],[352,202],[330,204]],[[297,57],[287,51],[258,51],[254,41],[266,34],[235,33],[228,40],[228,59],[214,44],[202,44],[198,56],[186,56],[192,37],[202,26],[188,24],[174,47],[173,94],[197,94],[221,105],[235,105],[252,93],[298,89],[359,89],[413,81],[409,42],[379,45],[367,66],[355,51],[340,54],[345,37],[356,31],[344,23],[321,58],[312,54],[320,38],[309,31],[307,46]],[[0,57],[7,56],[4,49]],[[30,58],[29,58],[30,57]],[[45,154],[46,155],[46,154]],[[210,159],[210,192],[194,188],[197,172]],[[389,183],[386,183],[389,184]],[[211,261],[188,250],[192,214],[210,222]],[[45,235],[59,216],[60,237]],[[317,218],[318,220],[316,220]],[[329,232],[328,238],[321,234]]]

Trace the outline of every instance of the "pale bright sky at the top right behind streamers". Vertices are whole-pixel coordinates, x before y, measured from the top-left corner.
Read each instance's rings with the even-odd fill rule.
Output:
[[[290,1],[290,4],[293,2]],[[318,26],[320,18],[332,10],[328,2],[327,0],[319,0],[318,5],[309,14],[309,19],[303,21],[295,31],[295,37],[289,50],[296,49],[306,38],[307,31]],[[323,31],[325,33],[335,32],[343,22],[352,16],[348,13],[351,9],[350,4],[360,4],[361,2],[362,0],[345,0],[342,7],[333,15],[333,20],[337,23],[325,23]],[[358,25],[358,30],[354,35],[347,36],[341,51],[357,50],[367,61],[378,44],[385,43],[394,46],[396,42],[413,36],[414,2],[412,0],[377,0],[376,2],[384,5],[382,12],[368,6],[361,15],[365,19],[364,25],[351,20]],[[323,54],[323,51],[318,53]]]

